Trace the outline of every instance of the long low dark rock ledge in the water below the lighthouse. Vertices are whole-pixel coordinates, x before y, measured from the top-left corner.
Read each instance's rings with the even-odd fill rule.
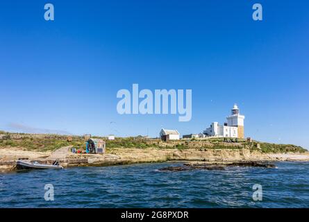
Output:
[[[258,161],[242,161],[242,162],[222,162],[222,163],[210,163],[210,164],[183,164],[181,167],[165,167],[159,169],[159,171],[190,171],[194,169],[199,170],[224,170],[226,167],[265,167],[275,168],[274,164],[268,162]]]

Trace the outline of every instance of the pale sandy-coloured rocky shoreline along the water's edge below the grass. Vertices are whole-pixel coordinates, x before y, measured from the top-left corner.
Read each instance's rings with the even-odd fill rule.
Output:
[[[267,162],[309,161],[309,153],[260,153],[249,149],[198,149],[112,148],[106,154],[77,154],[71,146],[54,152],[24,151],[22,148],[0,148],[0,172],[15,171],[19,158],[51,164],[59,160],[62,167],[103,167],[119,164],[185,161],[182,171],[190,169],[226,169],[226,167],[273,167]]]

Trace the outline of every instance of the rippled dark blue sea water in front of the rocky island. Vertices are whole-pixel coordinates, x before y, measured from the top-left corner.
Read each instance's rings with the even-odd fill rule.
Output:
[[[309,207],[309,163],[159,171],[181,162],[0,174],[0,207]],[[46,185],[53,200],[45,200]],[[253,200],[261,185],[262,200]]]

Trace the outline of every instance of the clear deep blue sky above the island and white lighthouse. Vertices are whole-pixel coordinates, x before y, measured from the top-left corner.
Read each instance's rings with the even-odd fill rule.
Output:
[[[237,103],[247,137],[309,148],[308,1],[49,2],[53,22],[44,1],[0,3],[1,130],[199,133]],[[120,116],[133,83],[192,89],[192,121]]]

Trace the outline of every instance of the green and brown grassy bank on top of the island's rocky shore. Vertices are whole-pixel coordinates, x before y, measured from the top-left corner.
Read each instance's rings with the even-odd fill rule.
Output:
[[[198,149],[241,149],[250,148],[252,151],[262,153],[303,153],[306,149],[301,146],[292,144],[269,144],[265,142],[247,142],[238,139],[237,143],[224,142],[222,138],[214,139],[187,139],[174,142],[162,142],[160,139],[146,139],[144,137],[126,137],[115,140],[107,140],[106,148],[176,148],[179,150],[188,148]],[[85,148],[85,139],[80,136],[64,135],[33,135],[23,133],[6,133],[0,131],[0,148],[1,147],[21,147],[32,151],[55,151],[62,146],[74,146],[78,149]]]

